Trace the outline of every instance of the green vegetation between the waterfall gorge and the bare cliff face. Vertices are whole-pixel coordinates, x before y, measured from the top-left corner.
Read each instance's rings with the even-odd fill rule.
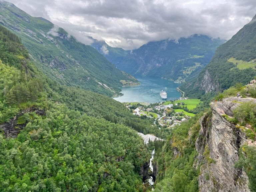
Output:
[[[154,191],[198,191],[197,177],[200,166],[195,169],[193,164],[197,154],[195,141],[200,129],[198,119],[201,116],[202,113],[197,114],[180,126],[175,126],[163,150],[155,154],[159,172]]]

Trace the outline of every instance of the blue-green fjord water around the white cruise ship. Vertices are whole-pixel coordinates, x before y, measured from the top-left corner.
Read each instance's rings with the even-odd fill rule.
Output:
[[[156,103],[163,101],[160,97],[160,91],[165,90],[168,98],[179,98],[181,94],[176,90],[180,86],[166,79],[156,77],[136,77],[141,83],[139,86],[122,87],[123,96],[114,99],[120,102],[149,102]]]

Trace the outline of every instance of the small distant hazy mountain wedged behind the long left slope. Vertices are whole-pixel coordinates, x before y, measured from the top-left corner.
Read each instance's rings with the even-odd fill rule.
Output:
[[[105,41],[98,41],[90,38],[93,43],[91,46],[106,57],[114,65],[118,65],[131,51],[126,51],[120,47],[111,47]]]

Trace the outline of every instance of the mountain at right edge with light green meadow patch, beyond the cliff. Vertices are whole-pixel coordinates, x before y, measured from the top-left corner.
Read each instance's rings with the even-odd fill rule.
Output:
[[[189,97],[200,97],[254,79],[256,74],[256,16],[230,40],[219,46],[210,63],[197,78],[182,85]]]

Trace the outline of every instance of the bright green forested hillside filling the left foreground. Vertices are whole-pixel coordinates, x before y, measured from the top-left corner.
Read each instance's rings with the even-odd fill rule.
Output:
[[[150,155],[131,127],[158,130],[150,120],[48,79],[4,27],[0,50],[0,191],[146,190]]]

